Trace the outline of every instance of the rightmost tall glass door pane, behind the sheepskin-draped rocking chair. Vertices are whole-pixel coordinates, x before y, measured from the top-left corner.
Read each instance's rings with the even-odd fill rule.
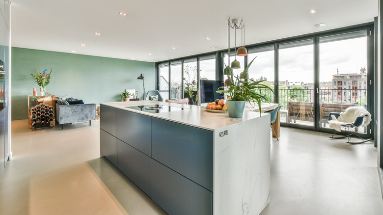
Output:
[[[367,31],[319,37],[319,62],[319,126],[328,129],[330,108],[368,108]],[[358,132],[366,134],[367,129]]]

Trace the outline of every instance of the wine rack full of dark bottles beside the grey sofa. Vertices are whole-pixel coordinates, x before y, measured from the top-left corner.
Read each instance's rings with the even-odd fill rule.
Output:
[[[28,96],[28,124],[32,131],[55,126],[55,96]]]

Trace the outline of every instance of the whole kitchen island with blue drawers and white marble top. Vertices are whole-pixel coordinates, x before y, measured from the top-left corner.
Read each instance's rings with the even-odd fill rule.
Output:
[[[166,213],[255,215],[270,202],[269,114],[152,101],[100,110],[100,153]]]

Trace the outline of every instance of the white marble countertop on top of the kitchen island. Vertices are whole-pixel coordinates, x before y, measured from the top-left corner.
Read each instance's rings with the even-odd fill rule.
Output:
[[[255,119],[261,117],[259,112],[255,111],[245,111],[242,118],[230,118],[228,113],[215,113],[208,112],[204,108],[205,106],[194,106],[194,105],[184,105],[176,103],[167,103],[167,102],[153,102],[153,101],[129,101],[129,102],[109,102],[101,103],[102,105],[107,105],[114,108],[119,108],[123,110],[129,110],[132,112],[137,112],[144,115],[149,115],[152,117],[165,119],[177,123],[182,123],[185,125],[190,125],[197,128],[202,128],[210,131],[226,127],[229,125],[241,123],[247,120]],[[149,113],[145,111],[135,110],[126,107],[132,106],[148,106],[148,105],[166,105],[170,107],[179,107],[185,108],[184,110],[177,110],[171,112],[162,112],[162,113]],[[262,116],[267,113],[262,113]]]

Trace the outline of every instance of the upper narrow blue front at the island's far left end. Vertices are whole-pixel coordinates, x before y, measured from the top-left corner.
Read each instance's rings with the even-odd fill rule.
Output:
[[[100,105],[100,128],[117,137],[117,108]]]

